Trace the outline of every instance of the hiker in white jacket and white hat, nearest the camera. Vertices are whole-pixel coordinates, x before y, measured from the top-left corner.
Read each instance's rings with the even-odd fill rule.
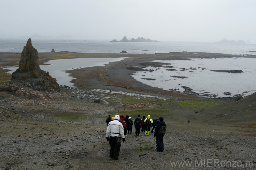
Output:
[[[123,139],[123,142],[125,141],[124,127],[119,120],[119,115],[115,115],[114,120],[109,122],[106,129],[106,139],[110,144],[109,156],[114,160],[118,160],[121,147],[121,138]]]

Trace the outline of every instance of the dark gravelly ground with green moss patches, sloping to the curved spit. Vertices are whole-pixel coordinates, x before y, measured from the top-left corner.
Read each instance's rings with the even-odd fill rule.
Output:
[[[127,69],[160,58],[232,55],[72,55],[129,58],[67,71],[76,87],[60,87],[58,92],[27,87],[1,91],[0,169],[255,169],[255,94],[238,101],[177,94],[137,82],[130,76],[134,70]],[[1,62],[6,60],[0,57]],[[110,159],[107,115],[129,114],[134,120],[138,113],[164,118],[165,151],[156,152],[152,134],[135,137],[133,129],[121,144],[119,160]]]

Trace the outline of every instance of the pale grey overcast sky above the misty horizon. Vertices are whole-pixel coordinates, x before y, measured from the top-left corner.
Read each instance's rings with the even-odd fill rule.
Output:
[[[251,40],[255,0],[1,0],[0,38]]]

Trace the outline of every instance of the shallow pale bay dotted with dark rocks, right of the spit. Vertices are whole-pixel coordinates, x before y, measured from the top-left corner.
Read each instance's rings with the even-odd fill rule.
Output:
[[[184,92],[209,97],[234,97],[256,92],[256,58],[190,58],[190,60],[158,60],[166,67],[146,67],[154,71],[137,71],[132,77],[144,84],[164,90]],[[215,72],[212,70],[242,70],[242,73]],[[154,80],[155,79],[155,80]]]

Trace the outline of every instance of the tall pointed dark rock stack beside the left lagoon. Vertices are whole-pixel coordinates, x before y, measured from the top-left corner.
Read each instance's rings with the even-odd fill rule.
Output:
[[[32,46],[30,38],[23,48],[19,68],[12,73],[9,85],[26,86],[38,91],[60,90],[56,79],[48,71],[40,69],[38,52]]]

